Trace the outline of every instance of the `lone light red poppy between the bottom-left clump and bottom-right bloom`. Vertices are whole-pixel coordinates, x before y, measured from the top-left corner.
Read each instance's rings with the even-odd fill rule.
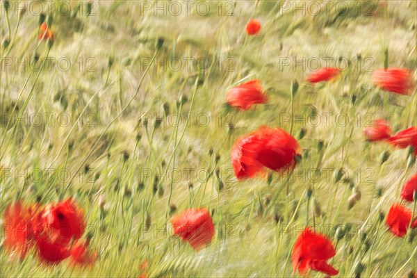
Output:
[[[171,219],[174,234],[188,241],[195,250],[211,243],[214,236],[214,224],[206,208],[190,208]]]

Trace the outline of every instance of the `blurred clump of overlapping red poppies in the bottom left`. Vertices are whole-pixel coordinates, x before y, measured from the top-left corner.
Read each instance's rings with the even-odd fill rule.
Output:
[[[97,256],[88,250],[89,240],[81,240],[85,220],[73,199],[47,206],[10,204],[4,213],[3,226],[4,247],[20,259],[32,249],[45,263],[70,258],[73,265],[90,265]]]

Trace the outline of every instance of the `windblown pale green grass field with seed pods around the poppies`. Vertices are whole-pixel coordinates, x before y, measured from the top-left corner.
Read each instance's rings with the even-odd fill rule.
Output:
[[[17,1],[8,13],[2,1],[0,17],[9,42],[0,52],[0,224],[18,199],[73,197],[97,261],[45,265],[0,244],[0,277],[297,277],[291,252],[306,224],[332,240],[336,277],[355,277],[359,264],[360,277],[417,270],[416,229],[399,238],[380,220],[416,163],[409,149],[363,136],[377,118],[394,132],[417,125],[416,89],[398,95],[371,80],[384,60],[416,79],[416,1],[195,0],[189,10],[177,1],[178,11],[172,1],[106,0],[89,16],[86,1],[49,1],[50,10],[19,2],[28,5],[21,17]],[[52,15],[53,45],[38,40],[33,3]],[[70,13],[57,10],[64,4]],[[251,18],[258,35],[245,33]],[[326,61],[340,76],[306,82]],[[226,106],[227,90],[252,79],[268,104]],[[291,124],[302,147],[294,172],[238,181],[234,142]],[[215,236],[196,252],[172,235],[170,218],[200,207]]]

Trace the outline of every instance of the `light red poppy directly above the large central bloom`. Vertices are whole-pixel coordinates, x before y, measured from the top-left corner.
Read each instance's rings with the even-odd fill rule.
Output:
[[[257,79],[243,83],[227,92],[227,103],[243,110],[251,108],[254,104],[266,104],[268,97],[262,91],[260,81]]]

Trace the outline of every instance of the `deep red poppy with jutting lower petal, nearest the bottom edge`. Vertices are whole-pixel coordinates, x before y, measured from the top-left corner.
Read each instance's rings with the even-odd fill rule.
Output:
[[[307,270],[316,270],[327,275],[337,275],[326,261],[336,255],[332,242],[321,234],[306,227],[298,236],[293,248],[293,271],[298,269],[302,274]]]

